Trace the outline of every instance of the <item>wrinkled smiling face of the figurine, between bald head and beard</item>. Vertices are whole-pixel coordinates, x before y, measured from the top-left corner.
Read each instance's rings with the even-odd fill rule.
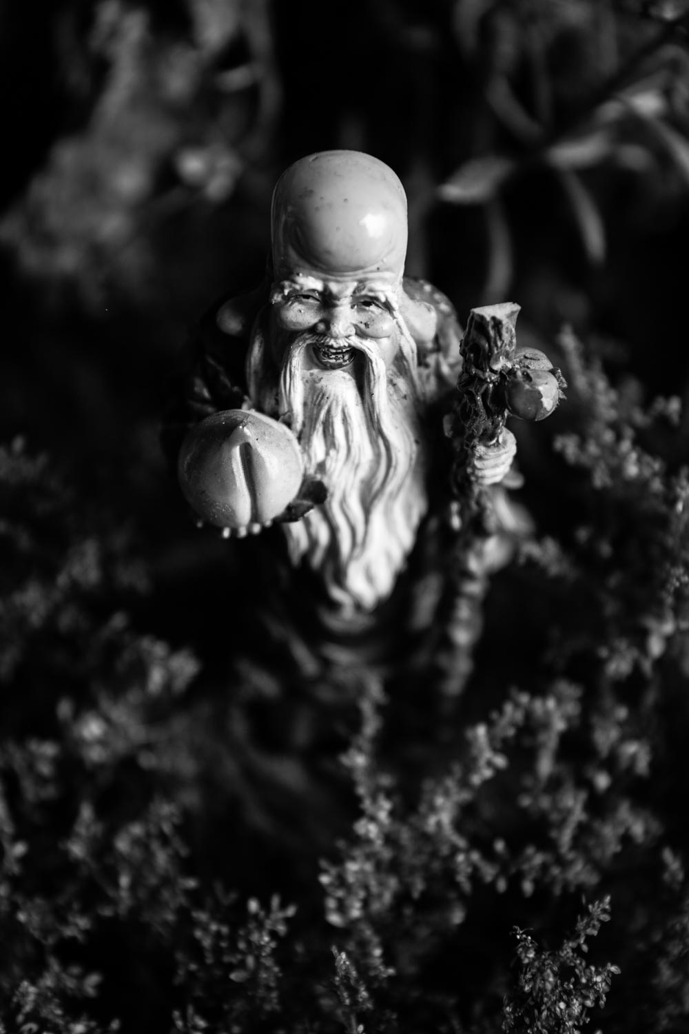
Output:
[[[339,370],[356,356],[353,342],[368,339],[389,368],[398,352],[398,324],[384,274],[375,278],[328,279],[297,273],[271,295],[279,363],[295,338],[309,335],[308,368]]]

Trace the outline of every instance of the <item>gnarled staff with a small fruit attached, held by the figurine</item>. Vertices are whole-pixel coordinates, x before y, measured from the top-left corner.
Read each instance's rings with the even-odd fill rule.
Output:
[[[508,416],[549,417],[566,387],[544,353],[516,347],[519,311],[511,302],[471,310],[460,345],[463,368],[457,397],[445,418],[445,433],[455,450],[450,492],[459,528],[439,607],[442,631],[435,663],[441,688],[452,695],[462,691],[472,669],[488,587],[487,543],[498,526],[494,493],[473,476],[476,446],[499,442]]]

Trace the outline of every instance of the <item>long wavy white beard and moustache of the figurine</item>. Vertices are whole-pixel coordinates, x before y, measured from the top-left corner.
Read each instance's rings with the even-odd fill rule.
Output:
[[[291,415],[306,468],[325,483],[328,497],[284,529],[292,560],[320,572],[343,613],[368,611],[393,590],[427,509],[415,356],[402,347],[387,370],[375,344],[338,341],[365,360],[359,393],[348,369],[304,368],[314,343],[328,345],[312,334],[291,343],[278,403]]]

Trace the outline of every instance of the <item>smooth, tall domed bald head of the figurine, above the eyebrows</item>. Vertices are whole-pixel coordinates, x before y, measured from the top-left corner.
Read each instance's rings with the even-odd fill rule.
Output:
[[[272,223],[278,279],[402,277],[407,199],[393,170],[370,154],[321,151],[294,162],[275,188]]]

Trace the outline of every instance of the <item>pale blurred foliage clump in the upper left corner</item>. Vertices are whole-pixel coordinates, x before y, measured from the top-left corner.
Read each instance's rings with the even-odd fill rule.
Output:
[[[2,222],[25,273],[52,290],[73,284],[89,308],[104,303],[105,278],[146,304],[151,225],[222,204],[268,142],[275,88],[260,6],[190,3],[176,33],[122,0],[95,4],[86,27],[75,7],[59,11],[64,71],[88,113]]]

